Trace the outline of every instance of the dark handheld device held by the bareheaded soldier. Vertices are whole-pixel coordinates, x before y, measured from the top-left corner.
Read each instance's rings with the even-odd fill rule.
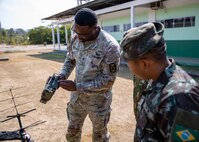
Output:
[[[53,74],[53,76],[49,77],[48,82],[46,83],[45,88],[41,94],[41,103],[46,104],[46,102],[52,98],[55,91],[59,88],[58,80],[59,77],[57,74]]]

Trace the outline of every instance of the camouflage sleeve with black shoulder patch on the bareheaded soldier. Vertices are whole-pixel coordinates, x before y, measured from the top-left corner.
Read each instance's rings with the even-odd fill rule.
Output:
[[[119,61],[119,46],[109,46],[102,61],[102,73],[93,80],[77,83],[77,91],[80,93],[94,93],[110,89],[119,71]]]

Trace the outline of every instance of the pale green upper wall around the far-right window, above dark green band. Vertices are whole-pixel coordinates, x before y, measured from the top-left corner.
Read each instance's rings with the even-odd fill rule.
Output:
[[[195,27],[167,28],[164,32],[166,40],[199,40],[199,4],[175,7],[156,12],[156,19],[169,19],[195,16]]]

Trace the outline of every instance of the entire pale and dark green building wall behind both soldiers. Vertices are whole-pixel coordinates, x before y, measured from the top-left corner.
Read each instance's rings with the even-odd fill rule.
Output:
[[[101,19],[102,26],[120,25],[119,32],[111,32],[118,41],[124,34],[123,24],[130,23],[130,10],[128,14],[110,16],[110,19]],[[164,38],[167,42],[167,52],[170,56],[199,58],[199,3],[177,6],[156,11],[156,20],[182,18],[195,16],[193,27],[165,28]],[[135,23],[147,22],[148,11],[136,12]]]

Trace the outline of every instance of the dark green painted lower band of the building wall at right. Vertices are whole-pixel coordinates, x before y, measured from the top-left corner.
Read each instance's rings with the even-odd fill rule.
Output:
[[[199,58],[199,40],[167,40],[169,56]]]

